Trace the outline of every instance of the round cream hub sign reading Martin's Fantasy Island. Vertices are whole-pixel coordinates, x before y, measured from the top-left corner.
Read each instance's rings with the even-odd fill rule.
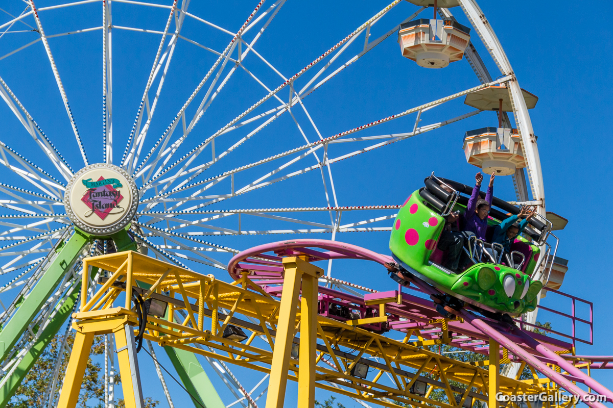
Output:
[[[66,188],[64,202],[70,220],[89,234],[107,236],[134,218],[138,190],[123,169],[103,163],[78,171]]]

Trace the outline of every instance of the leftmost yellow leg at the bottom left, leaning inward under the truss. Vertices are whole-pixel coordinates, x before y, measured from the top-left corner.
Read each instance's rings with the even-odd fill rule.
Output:
[[[74,408],[77,405],[93,342],[94,333],[77,332],[75,335],[72,353],[70,353],[70,360],[66,367],[66,374],[64,374],[64,385],[59,395],[58,408]]]

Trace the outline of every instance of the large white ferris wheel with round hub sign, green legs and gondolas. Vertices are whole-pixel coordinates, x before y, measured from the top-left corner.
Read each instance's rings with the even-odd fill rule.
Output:
[[[511,175],[513,203],[535,205],[544,217],[543,175],[528,114],[536,97],[521,89],[474,0],[381,4],[371,17],[351,21],[352,29],[336,42],[295,53],[300,65],[273,56],[280,53],[275,46],[288,43],[267,38],[291,24],[283,21],[285,4],[262,0],[254,9],[217,10],[218,16],[189,0],[58,1],[44,7],[29,0],[2,9],[0,123],[10,133],[0,136],[1,404],[56,333],[65,343],[78,296],[92,295],[79,294],[86,256],[132,249],[186,269],[225,270],[232,256],[270,235],[327,234],[335,240],[340,232],[391,231],[401,203],[368,204],[378,186],[356,188],[354,179],[386,157],[369,159],[368,168],[360,162],[352,177],[335,171],[338,163],[351,166],[379,147],[389,157],[397,142],[496,111],[497,126],[488,127],[495,121],[485,113],[481,117],[490,119],[483,127],[467,129],[466,160],[485,172]],[[230,12],[234,19],[223,18]],[[282,29],[275,31],[275,24]],[[470,65],[476,75],[466,77],[460,91],[445,94],[443,88],[424,103],[403,102],[367,121],[335,111],[335,91],[310,103],[338,78],[351,76],[349,67],[372,61],[373,50],[394,42],[400,51],[386,63],[405,64],[412,75],[436,70],[443,78],[446,67],[456,64]],[[75,73],[70,64],[90,53],[94,61],[79,67],[91,71]],[[197,64],[189,65],[191,60]],[[197,72],[182,69],[196,65]],[[463,111],[428,122],[430,109],[452,103]],[[337,116],[351,125],[330,125]],[[44,122],[61,123],[61,132]],[[348,186],[362,201],[341,206],[339,192]],[[287,198],[289,188],[308,193],[295,201]],[[332,261],[326,272],[330,280]],[[101,276],[88,273],[93,281]],[[106,343],[105,363],[112,363],[111,339]],[[185,370],[196,357],[174,361],[186,387],[198,394],[197,379]],[[234,403],[257,407],[266,377],[255,387],[243,385],[225,363],[209,363],[236,396]],[[105,376],[111,371],[109,365]],[[59,365],[53,374],[42,398],[48,406],[56,401]],[[204,398],[199,395],[192,398]],[[106,401],[113,404],[108,387]]]

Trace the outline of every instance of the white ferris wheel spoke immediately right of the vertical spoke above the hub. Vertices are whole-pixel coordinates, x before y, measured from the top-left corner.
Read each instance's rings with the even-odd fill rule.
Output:
[[[133,158],[132,155],[135,155],[134,157],[136,157],[136,155],[139,154],[140,149],[142,149],[142,144],[145,141],[145,136],[147,136],[147,131],[151,124],[151,119],[153,119],[155,108],[158,105],[158,99],[162,91],[162,86],[164,86],[164,80],[166,79],[166,73],[168,72],[168,69],[170,67],[170,61],[172,60],[172,56],[175,51],[175,46],[177,45],[178,36],[181,32],[181,28],[183,28],[183,21],[185,20],[185,11],[187,10],[188,6],[189,6],[189,1],[184,0],[183,4],[181,5],[181,9],[177,12],[180,15],[178,19],[175,21],[175,25],[176,25],[175,32],[170,38],[170,42],[166,46],[166,50],[164,51],[164,54],[162,54],[162,56],[160,56],[160,53],[162,52],[162,47],[164,46],[164,43],[166,42],[166,37],[170,29],[170,23],[172,22],[172,17],[173,15],[175,15],[175,17],[177,16],[177,14],[175,14],[175,10],[177,10],[177,0],[173,0],[172,7],[170,9],[170,15],[168,16],[168,20],[166,21],[166,26],[164,27],[164,31],[161,33],[162,39],[160,40],[160,43],[158,46],[158,52],[156,53],[156,56],[154,58],[153,67],[151,67],[151,72],[149,74],[149,78],[145,86],[145,92],[143,92],[143,97],[141,98],[139,110],[137,112],[137,116],[134,121],[134,125],[132,125],[132,131],[130,132],[128,143],[126,144],[126,149],[124,150],[123,157],[121,158],[121,166],[127,165],[126,170],[128,172],[132,171],[132,168],[134,166],[133,161],[137,160]],[[162,64],[164,64],[164,60],[166,60],[166,65],[164,66],[164,70],[162,70],[162,76],[159,80],[158,90],[156,91],[156,94],[153,98],[153,104],[151,104],[150,106],[149,104],[150,87],[153,84],[153,81],[157,78],[158,73],[161,70]],[[147,110],[147,121],[145,121],[145,125],[143,125],[143,128],[141,130],[140,125],[141,125],[142,118],[143,118],[143,115],[142,115],[143,107],[147,108],[146,109]],[[134,141],[134,147],[128,152],[128,149],[132,143],[132,139],[134,138],[134,135],[136,133],[138,133],[139,135],[137,136],[137,139],[135,139]]]

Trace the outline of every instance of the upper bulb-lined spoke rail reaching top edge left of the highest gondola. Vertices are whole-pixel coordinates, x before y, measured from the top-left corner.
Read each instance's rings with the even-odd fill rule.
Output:
[[[243,117],[245,117],[246,115],[248,115],[249,113],[251,113],[252,111],[254,111],[254,109],[256,109],[257,107],[259,107],[260,105],[262,105],[262,103],[266,102],[268,99],[270,99],[271,97],[273,97],[274,94],[278,93],[279,91],[281,91],[281,89],[284,89],[284,87],[286,87],[287,85],[291,84],[293,81],[297,80],[298,78],[300,78],[300,76],[302,76],[305,72],[307,72],[308,70],[310,70],[314,65],[318,64],[319,62],[321,62],[323,59],[325,59],[330,53],[332,53],[333,51],[337,50],[338,47],[340,47],[341,45],[343,45],[345,42],[347,42],[348,40],[350,40],[352,37],[356,36],[357,34],[359,34],[360,32],[362,32],[369,24],[371,24],[373,21],[378,20],[379,17],[381,17],[382,15],[384,15],[385,13],[387,13],[390,9],[392,9],[392,7],[396,6],[398,4],[398,2],[400,2],[400,0],[395,0],[394,2],[392,2],[392,4],[390,4],[389,6],[387,6],[385,9],[381,10],[381,12],[377,13],[374,17],[370,18],[366,23],[362,24],[362,26],[360,26],[359,28],[357,28],[354,32],[352,32],[351,34],[349,34],[347,37],[345,37],[345,39],[341,40],[340,42],[338,42],[336,45],[332,46],[332,48],[330,48],[328,51],[326,51],[326,53],[322,54],[321,56],[319,56],[317,59],[315,59],[313,62],[311,62],[311,64],[307,65],[307,67],[303,68],[302,70],[300,70],[298,73],[296,73],[295,75],[293,75],[291,78],[289,78],[289,80],[285,81],[283,84],[281,84],[280,86],[276,87],[276,89],[274,89],[272,92],[269,92],[268,95],[266,95],[264,98],[262,98],[261,100],[259,100],[257,103],[255,103],[254,105],[252,105],[250,108],[248,108],[246,111],[244,111],[242,114],[240,114],[239,116],[237,116],[234,120],[232,120],[231,122],[229,122],[227,125],[225,125],[223,128],[219,129],[217,132],[215,132],[212,136],[210,136],[209,138],[207,138],[204,142],[200,143],[198,146],[194,147],[194,149],[190,150],[187,154],[183,155],[183,157],[181,157],[179,160],[175,161],[172,165],[167,166],[166,168],[164,168],[161,172],[157,173],[156,175],[154,175],[151,179],[149,179],[145,184],[143,184],[143,187],[147,187],[148,184],[151,184],[151,182],[153,182],[154,180],[158,179],[159,177],[161,177],[163,174],[165,174],[167,171],[169,171],[170,169],[174,168],[175,166],[177,166],[179,163],[183,162],[184,160],[186,160],[186,158],[188,157],[192,157],[192,156],[197,156],[200,153],[202,153],[202,151],[204,151],[205,147],[207,147],[211,141],[213,141],[213,139],[216,138],[216,136],[220,135],[221,133],[223,133],[227,128],[231,127],[232,125],[234,125],[235,123],[237,123],[238,121],[240,121]],[[176,119],[175,119],[176,121]],[[156,147],[156,146],[155,146]],[[193,160],[193,159],[191,159]],[[142,165],[142,163],[141,163]],[[137,174],[137,172],[140,169],[140,165],[139,168],[137,168],[137,171],[135,172],[135,174]],[[185,167],[185,166],[184,166]]]

